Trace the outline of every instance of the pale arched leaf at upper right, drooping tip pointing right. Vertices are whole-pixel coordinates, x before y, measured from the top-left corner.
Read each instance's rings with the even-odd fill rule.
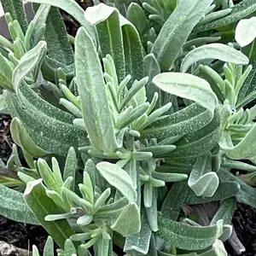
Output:
[[[225,44],[207,44],[195,48],[183,59],[181,72],[185,73],[189,67],[201,60],[220,60],[224,62],[246,65],[249,60],[241,51]]]

